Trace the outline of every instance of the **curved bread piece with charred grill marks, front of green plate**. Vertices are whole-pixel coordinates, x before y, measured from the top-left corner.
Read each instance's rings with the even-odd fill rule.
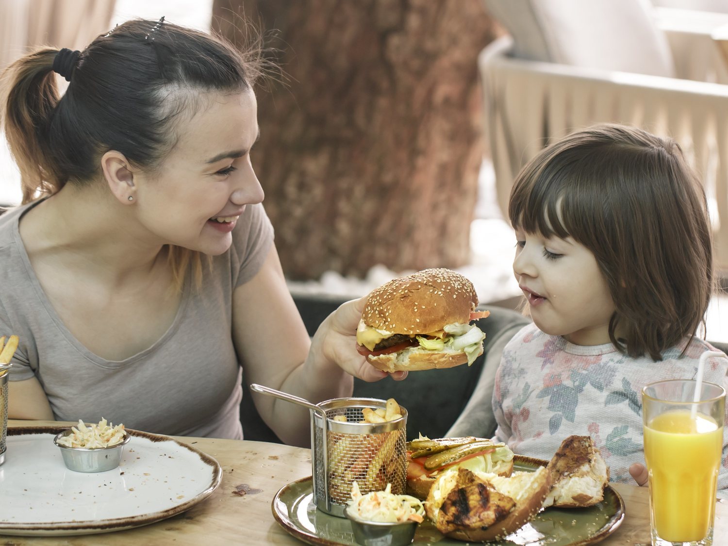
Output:
[[[425,510],[448,537],[470,542],[499,540],[541,510],[550,476],[545,467],[513,472],[510,478],[464,468],[444,472],[432,484]]]

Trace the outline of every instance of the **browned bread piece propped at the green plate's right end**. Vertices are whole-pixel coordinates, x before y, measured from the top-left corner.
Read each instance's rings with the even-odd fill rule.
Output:
[[[575,508],[596,505],[604,499],[609,467],[590,436],[569,436],[547,466],[551,490],[544,507]]]

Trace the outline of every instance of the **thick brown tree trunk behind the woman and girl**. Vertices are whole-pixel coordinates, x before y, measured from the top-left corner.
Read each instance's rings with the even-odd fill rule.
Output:
[[[239,40],[243,10],[290,77],[258,90],[253,149],[286,275],[466,264],[496,33],[480,0],[215,0],[213,28]]]

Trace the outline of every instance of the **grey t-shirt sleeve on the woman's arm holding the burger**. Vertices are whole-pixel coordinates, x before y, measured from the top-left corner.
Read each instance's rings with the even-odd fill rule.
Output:
[[[273,225],[263,205],[248,205],[233,230],[233,286],[256,276],[273,246]]]

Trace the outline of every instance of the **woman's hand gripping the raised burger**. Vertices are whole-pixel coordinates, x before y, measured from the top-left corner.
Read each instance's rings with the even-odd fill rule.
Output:
[[[364,381],[379,381],[388,375],[400,381],[406,371],[387,373],[373,367],[357,351],[357,325],[362,317],[366,297],[347,301],[321,323],[309,353],[310,358],[323,359],[339,365],[342,370]]]

